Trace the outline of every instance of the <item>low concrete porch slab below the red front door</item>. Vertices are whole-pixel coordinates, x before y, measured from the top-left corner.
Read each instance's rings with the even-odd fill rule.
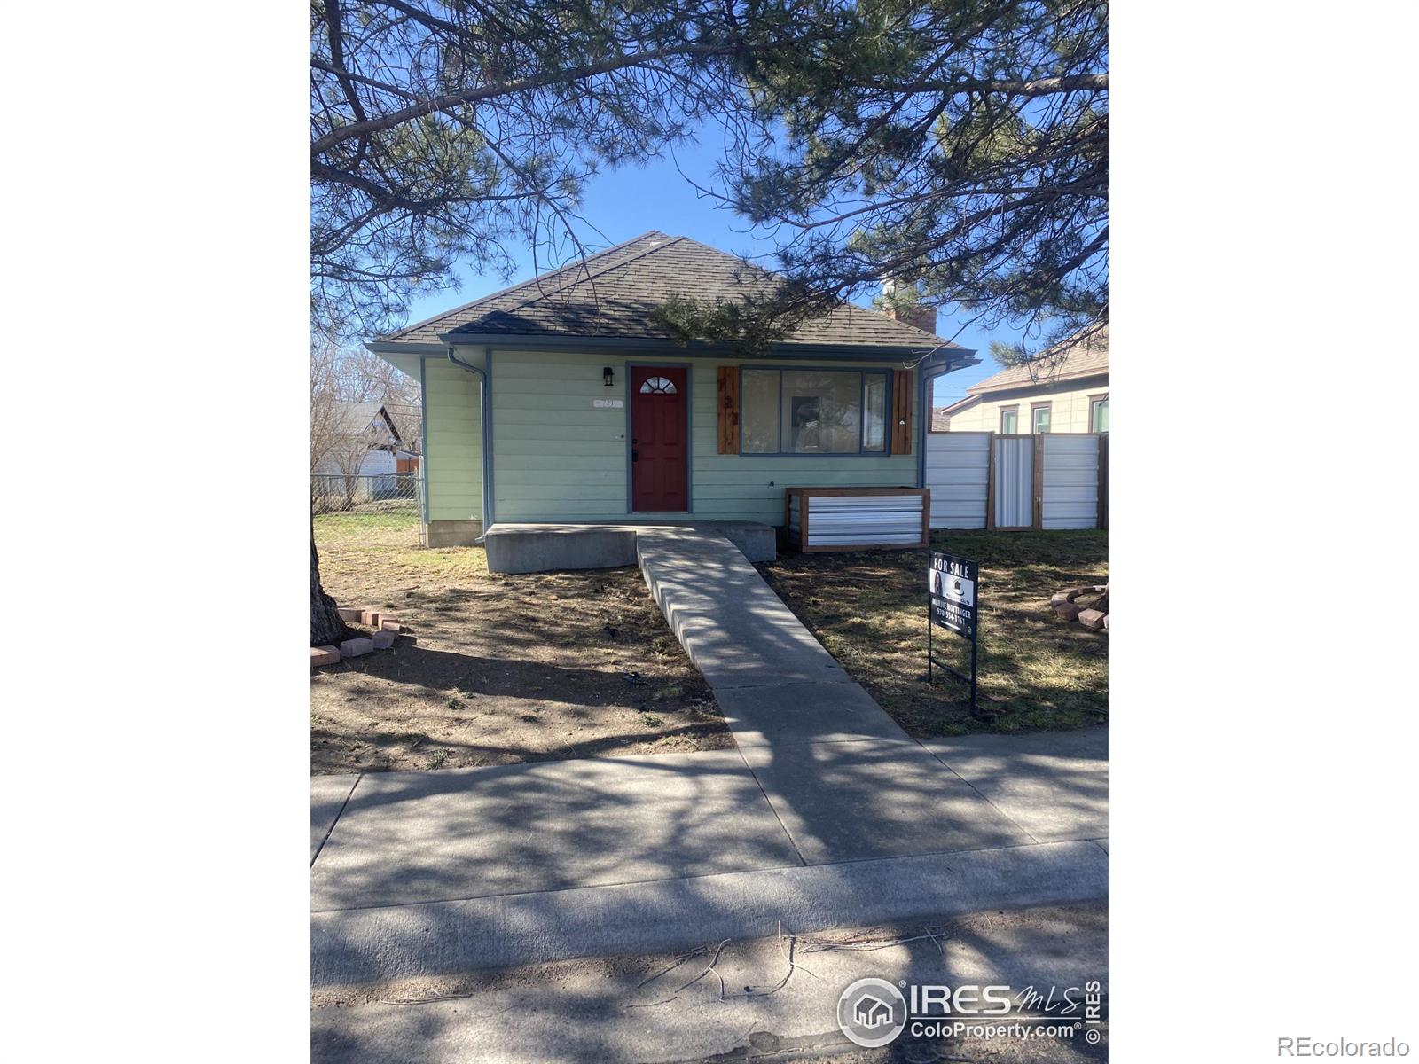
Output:
[[[463,522],[438,522],[463,523]],[[477,522],[468,522],[477,523]],[[430,525],[430,531],[433,525]],[[484,546],[491,573],[545,573],[556,569],[616,569],[636,565],[636,536],[653,529],[690,529],[724,536],[749,562],[778,558],[775,529],[753,521],[692,521],[647,525],[505,525],[488,529]],[[430,541],[430,546],[444,546]]]

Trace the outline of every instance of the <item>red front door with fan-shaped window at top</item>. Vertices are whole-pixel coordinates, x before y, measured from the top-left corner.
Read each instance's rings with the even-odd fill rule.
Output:
[[[631,509],[690,509],[688,413],[684,366],[630,367]]]

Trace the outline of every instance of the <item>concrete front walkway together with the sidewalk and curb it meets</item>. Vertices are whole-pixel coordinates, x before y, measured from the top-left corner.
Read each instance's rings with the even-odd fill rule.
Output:
[[[727,539],[637,560],[738,749],[312,780],[316,986],[1104,897],[1104,729],[918,743]]]

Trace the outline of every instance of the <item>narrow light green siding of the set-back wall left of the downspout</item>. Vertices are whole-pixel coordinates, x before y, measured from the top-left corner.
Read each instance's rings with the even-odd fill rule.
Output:
[[[481,366],[481,355],[460,352]],[[426,491],[430,521],[482,521],[482,430],[478,376],[447,359],[424,359]]]

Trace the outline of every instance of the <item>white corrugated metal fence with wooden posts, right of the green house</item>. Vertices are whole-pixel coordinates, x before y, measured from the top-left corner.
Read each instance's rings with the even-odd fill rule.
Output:
[[[1108,528],[1108,437],[927,433],[931,526]]]

